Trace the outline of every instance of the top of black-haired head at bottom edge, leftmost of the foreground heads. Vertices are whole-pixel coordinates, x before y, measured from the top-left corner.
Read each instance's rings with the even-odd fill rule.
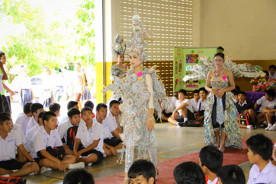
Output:
[[[63,184],[95,184],[93,176],[85,169],[74,169],[67,173]]]

